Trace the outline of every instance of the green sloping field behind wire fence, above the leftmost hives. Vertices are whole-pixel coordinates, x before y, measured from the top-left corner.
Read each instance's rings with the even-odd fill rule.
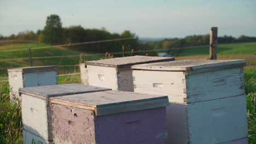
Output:
[[[79,70],[77,64],[81,60],[79,55],[83,53],[83,60],[87,59],[88,61],[97,60],[104,58],[105,56],[84,56],[92,53],[82,52],[72,49],[67,49],[66,47],[49,47],[46,49],[35,49],[34,47],[49,46],[47,44],[31,44],[32,57],[50,57],[50,56],[69,56],[77,55],[75,57],[62,57],[62,58],[47,58],[47,59],[32,59],[33,66],[40,65],[58,65],[59,74],[73,73],[74,70]],[[22,51],[8,51],[1,52],[1,50],[13,50],[13,49],[26,49]],[[9,59],[9,58],[24,58],[29,57],[30,53],[28,51],[28,44],[2,44],[0,45],[0,59]],[[66,65],[66,66],[63,66]],[[7,76],[7,70],[4,68],[13,68],[13,67],[29,67],[30,60],[14,60],[14,61],[1,61],[0,60],[0,75],[3,77]]]

